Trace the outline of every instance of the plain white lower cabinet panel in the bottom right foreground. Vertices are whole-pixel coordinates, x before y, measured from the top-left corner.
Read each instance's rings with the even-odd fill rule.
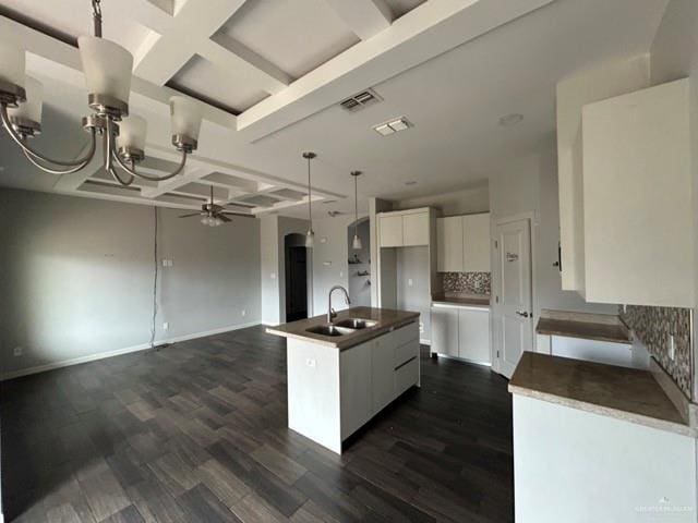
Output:
[[[696,522],[696,438],[513,396],[517,523]]]

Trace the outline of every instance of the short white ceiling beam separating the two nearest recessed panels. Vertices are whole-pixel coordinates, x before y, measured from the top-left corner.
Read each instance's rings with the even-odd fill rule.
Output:
[[[206,39],[198,48],[198,54],[224,73],[233,71],[232,82],[239,82],[238,78],[243,77],[272,95],[292,82],[287,73],[227,35]]]

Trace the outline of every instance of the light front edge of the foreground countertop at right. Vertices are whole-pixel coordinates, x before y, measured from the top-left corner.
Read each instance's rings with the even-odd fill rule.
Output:
[[[573,398],[566,398],[563,396],[543,392],[540,390],[530,389],[528,387],[520,387],[512,384],[508,385],[507,389],[513,394],[533,398],[535,400],[546,401],[549,403],[556,403],[558,405],[567,406],[570,409],[577,409],[579,411],[589,412],[591,414],[613,417],[616,419],[635,423],[637,425],[642,425],[659,430],[666,430],[670,433],[678,434],[681,436],[688,436],[691,438],[698,437],[698,430],[689,427],[688,425],[669,422],[665,419],[658,419],[655,417],[646,416],[634,412],[599,405],[597,403],[590,403],[588,401],[575,400]]]

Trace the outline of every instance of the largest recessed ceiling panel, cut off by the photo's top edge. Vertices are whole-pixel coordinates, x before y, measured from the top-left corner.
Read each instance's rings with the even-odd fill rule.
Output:
[[[359,41],[325,0],[248,0],[221,33],[294,78]]]

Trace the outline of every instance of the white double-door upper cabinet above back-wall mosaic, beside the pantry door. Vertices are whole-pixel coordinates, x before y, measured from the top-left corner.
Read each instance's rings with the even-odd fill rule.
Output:
[[[438,272],[490,272],[490,214],[436,220]]]

